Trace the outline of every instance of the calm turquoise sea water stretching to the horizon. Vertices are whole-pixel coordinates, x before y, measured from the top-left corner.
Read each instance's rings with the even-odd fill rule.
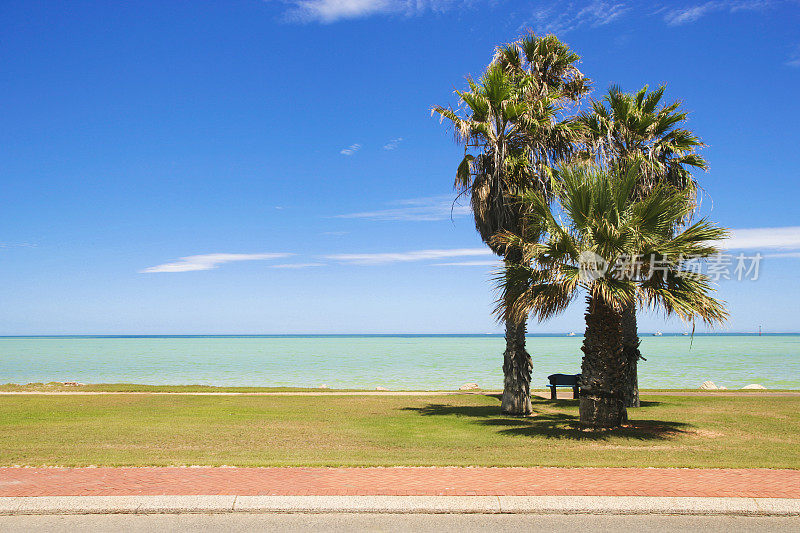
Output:
[[[532,336],[533,385],[580,371],[581,337]],[[501,388],[496,335],[2,337],[0,383]],[[642,338],[643,388],[800,389],[800,335]]]

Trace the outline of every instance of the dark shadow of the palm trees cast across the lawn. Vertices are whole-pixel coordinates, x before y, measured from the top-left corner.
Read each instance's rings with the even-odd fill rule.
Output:
[[[656,402],[657,403],[657,402]],[[594,430],[580,424],[576,415],[543,411],[541,404],[576,407],[578,400],[534,401],[531,417],[504,416],[495,405],[447,405],[428,404],[424,407],[405,407],[404,411],[416,411],[421,416],[457,416],[473,418],[474,423],[498,429],[498,433],[511,436],[540,437],[547,439],[571,439],[603,441],[610,437],[649,441],[669,440],[687,433],[692,426],[683,422],[663,420],[632,420],[625,427],[613,430]],[[538,408],[538,409],[537,409]]]

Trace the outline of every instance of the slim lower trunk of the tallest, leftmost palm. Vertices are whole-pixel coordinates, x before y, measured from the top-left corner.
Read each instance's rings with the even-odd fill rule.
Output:
[[[508,415],[527,416],[531,406],[531,356],[525,351],[526,320],[506,320],[506,351],[503,354],[503,401],[500,410]]]

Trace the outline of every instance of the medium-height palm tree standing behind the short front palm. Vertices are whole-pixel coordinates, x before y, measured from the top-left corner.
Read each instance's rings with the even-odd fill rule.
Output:
[[[583,127],[584,143],[590,159],[600,164],[623,168],[639,166],[635,197],[643,197],[659,183],[667,183],[694,200],[697,183],[691,169],[706,170],[706,161],[695,151],[704,146],[691,131],[680,127],[687,113],[679,102],[663,105],[665,87],[654,91],[645,86],[637,93],[623,93],[612,86],[602,101],[593,101],[590,111],[578,120]],[[637,163],[634,163],[637,161]],[[689,213],[687,216],[691,216]],[[639,351],[636,310],[623,310],[623,336],[628,358],[626,405],[639,407]]]

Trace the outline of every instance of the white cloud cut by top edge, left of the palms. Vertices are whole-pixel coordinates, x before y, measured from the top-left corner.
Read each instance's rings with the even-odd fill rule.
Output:
[[[374,15],[414,16],[445,12],[468,0],[285,0],[291,7],[284,13],[292,22],[321,22],[358,19]]]

